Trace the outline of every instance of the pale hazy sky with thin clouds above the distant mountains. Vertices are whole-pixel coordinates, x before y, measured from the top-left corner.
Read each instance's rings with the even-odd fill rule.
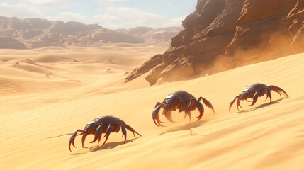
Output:
[[[0,16],[98,23],[104,28],[181,26],[197,0],[0,0]]]

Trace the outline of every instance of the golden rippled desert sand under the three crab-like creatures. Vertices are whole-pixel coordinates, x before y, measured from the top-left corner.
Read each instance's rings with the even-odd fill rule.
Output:
[[[9,60],[0,62],[1,169],[304,169],[304,54],[188,81],[149,86],[140,77],[123,84],[125,72],[164,49],[1,50],[0,59]],[[13,67],[26,58],[37,65]],[[280,86],[289,98],[272,93],[271,105],[263,97],[229,113],[232,98],[253,82]],[[158,128],[151,118],[154,104],[177,89],[207,98],[216,116],[206,108],[200,121],[189,123],[175,113],[179,123]],[[123,145],[121,134],[112,133],[99,147],[89,136],[85,148],[77,137],[69,152],[70,135],[59,135],[98,115],[122,118],[142,137],[128,132]]]

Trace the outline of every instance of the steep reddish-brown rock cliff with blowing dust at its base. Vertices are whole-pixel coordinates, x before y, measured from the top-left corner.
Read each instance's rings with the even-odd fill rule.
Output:
[[[171,47],[135,69],[126,82],[146,72],[151,85],[188,79],[304,52],[303,20],[304,0],[198,0]]]

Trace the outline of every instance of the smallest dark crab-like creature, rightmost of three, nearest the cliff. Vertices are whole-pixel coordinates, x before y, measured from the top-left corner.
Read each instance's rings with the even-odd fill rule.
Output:
[[[264,96],[264,94],[267,95],[265,101],[267,100],[267,98],[270,99],[269,104],[271,103],[271,91],[276,91],[276,93],[280,94],[285,94],[287,97],[288,95],[286,94],[286,92],[281,89],[278,86],[266,86],[265,84],[261,84],[261,83],[256,83],[256,84],[250,84],[249,86],[247,86],[246,89],[244,89],[244,91],[242,91],[242,94],[239,94],[237,96],[235,96],[235,98],[231,101],[230,106],[229,106],[229,111],[231,106],[233,105],[233,103],[235,103],[235,101],[237,101],[237,110],[239,110],[239,106],[240,106],[240,102],[242,100],[246,100],[248,98],[253,98],[252,104],[249,106],[253,106],[254,103],[257,102],[257,98]],[[242,106],[240,106],[242,108]]]

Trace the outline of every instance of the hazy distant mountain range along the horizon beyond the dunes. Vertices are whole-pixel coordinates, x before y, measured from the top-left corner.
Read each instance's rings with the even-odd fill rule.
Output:
[[[110,30],[98,24],[0,16],[0,48],[98,46],[116,42],[170,43],[182,27]]]

